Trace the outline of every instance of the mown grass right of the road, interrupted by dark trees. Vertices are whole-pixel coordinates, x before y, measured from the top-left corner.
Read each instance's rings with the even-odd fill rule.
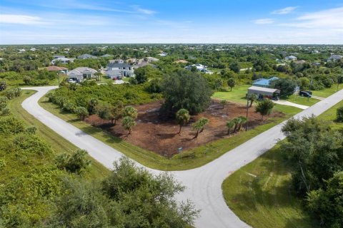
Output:
[[[343,100],[318,118],[334,121],[341,106]],[[343,123],[332,122],[332,128],[342,127]],[[278,150],[277,145],[224,180],[224,198],[233,212],[254,228],[316,227],[301,200],[292,194],[291,166]]]

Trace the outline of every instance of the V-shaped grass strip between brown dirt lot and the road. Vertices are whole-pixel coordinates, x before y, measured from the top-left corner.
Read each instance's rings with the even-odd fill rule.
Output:
[[[136,147],[135,145],[131,145],[129,142],[126,142],[119,138],[115,138],[114,136],[107,134],[100,128],[94,128],[87,123],[79,121],[78,118],[76,118],[76,115],[65,113],[64,111],[61,111],[57,105],[47,102],[47,98],[41,98],[40,105],[59,118],[66,120],[67,122],[76,126],[76,128],[83,130],[85,133],[92,135],[94,138],[101,140],[111,147],[114,147],[116,150],[123,152],[125,155],[131,157],[133,160],[136,160],[137,162],[140,162],[147,167],[158,170],[189,170],[205,165],[208,162],[216,159],[217,157],[220,157],[225,152],[232,150],[234,147],[237,147],[250,138],[259,135],[265,130],[272,128],[274,125],[277,125],[277,123],[281,123],[283,120],[301,111],[299,108],[277,105],[276,110],[284,110],[287,113],[284,118],[275,118],[274,120],[269,119],[271,120],[270,123],[260,125],[253,130],[242,132],[230,138],[217,140],[208,143],[207,145],[202,145],[200,147],[194,148],[192,150],[184,151],[182,152],[182,154],[168,159],[161,155],[157,155],[154,152],[150,152],[140,147]]]

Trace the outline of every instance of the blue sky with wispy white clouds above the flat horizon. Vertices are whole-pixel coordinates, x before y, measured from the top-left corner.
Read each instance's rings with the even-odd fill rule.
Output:
[[[0,44],[343,44],[343,1],[0,0]]]

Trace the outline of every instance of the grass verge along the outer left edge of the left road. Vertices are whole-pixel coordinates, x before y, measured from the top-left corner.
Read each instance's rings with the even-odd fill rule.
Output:
[[[36,120],[36,118],[27,113],[26,110],[21,107],[21,103],[23,102],[23,100],[34,93],[34,90],[23,90],[23,93],[19,98],[10,100],[8,107],[11,109],[11,113],[13,113],[17,118],[23,120],[26,125],[36,126],[38,128],[37,134],[39,135],[39,137],[45,140],[49,145],[51,145],[56,153],[71,153],[74,152],[74,150],[77,150],[78,148],[75,145],[62,138],[50,128],[46,127],[46,125],[41,123],[39,120]],[[90,178],[99,178],[104,177],[106,174],[109,173],[109,170],[107,170],[106,167],[101,165],[92,157],[89,156],[89,159],[91,160],[91,167],[89,167],[89,172],[86,172],[85,176],[89,176]]]

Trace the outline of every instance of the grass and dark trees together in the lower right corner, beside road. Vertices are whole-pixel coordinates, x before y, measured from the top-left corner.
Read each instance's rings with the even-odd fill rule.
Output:
[[[224,198],[240,219],[252,227],[342,225],[342,105],[289,121],[287,140],[223,182]]]

